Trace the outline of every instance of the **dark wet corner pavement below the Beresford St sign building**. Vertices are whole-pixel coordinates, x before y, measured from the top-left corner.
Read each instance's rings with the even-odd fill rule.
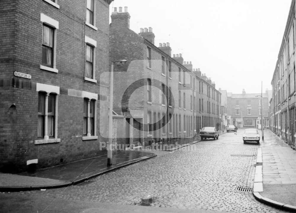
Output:
[[[156,155],[151,152],[117,151],[113,153],[111,166],[107,166],[106,154],[36,170],[33,173],[0,173],[0,191],[65,187],[152,157],[156,157]]]

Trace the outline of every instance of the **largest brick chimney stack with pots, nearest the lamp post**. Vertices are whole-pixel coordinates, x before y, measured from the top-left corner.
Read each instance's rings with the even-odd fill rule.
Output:
[[[117,8],[114,7],[114,12],[111,14],[111,29],[129,28],[130,18],[131,16],[128,13],[128,7],[124,7],[124,12],[122,12],[122,7],[119,7],[118,12]]]

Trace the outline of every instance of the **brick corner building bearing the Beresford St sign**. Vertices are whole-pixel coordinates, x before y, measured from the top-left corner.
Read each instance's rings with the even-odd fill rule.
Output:
[[[1,171],[102,153],[110,2],[0,1]]]

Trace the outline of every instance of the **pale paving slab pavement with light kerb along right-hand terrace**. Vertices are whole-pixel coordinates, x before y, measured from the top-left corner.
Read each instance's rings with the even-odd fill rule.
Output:
[[[260,144],[253,189],[255,198],[296,212],[296,151],[268,129]]]

